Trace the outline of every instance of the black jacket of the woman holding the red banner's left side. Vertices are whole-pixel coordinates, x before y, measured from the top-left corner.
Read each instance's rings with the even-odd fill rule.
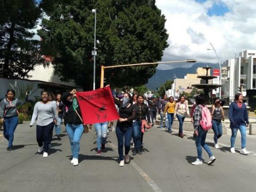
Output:
[[[76,125],[83,124],[83,122],[80,120],[79,116],[76,114],[76,111],[77,111],[78,114],[80,115],[80,117],[82,118],[80,107],[78,106],[76,108],[76,111],[74,111],[73,106],[72,106],[73,101],[67,100],[68,96],[70,96],[70,93],[66,93],[61,96],[61,101],[64,103],[64,105],[66,105],[68,107],[68,112],[65,114],[66,122],[68,124],[76,124]]]

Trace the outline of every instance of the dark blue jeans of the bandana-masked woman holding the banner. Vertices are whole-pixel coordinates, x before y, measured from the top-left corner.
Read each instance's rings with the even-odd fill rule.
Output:
[[[132,125],[129,123],[116,124],[116,137],[118,141],[118,154],[120,161],[124,160],[124,154],[128,155],[132,139]],[[124,148],[124,150],[123,150]]]

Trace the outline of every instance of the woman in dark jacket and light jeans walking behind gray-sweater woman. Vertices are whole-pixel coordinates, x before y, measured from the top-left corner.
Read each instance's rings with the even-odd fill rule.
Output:
[[[54,128],[55,128],[55,136],[54,136],[54,138],[57,138],[59,140],[60,140],[60,132],[61,132],[61,122],[62,122],[62,119],[64,117],[64,112],[65,112],[65,105],[60,100],[60,98],[61,98],[61,94],[57,94],[57,96],[56,96],[56,104],[57,104],[59,118],[57,119],[57,124],[54,125]]]

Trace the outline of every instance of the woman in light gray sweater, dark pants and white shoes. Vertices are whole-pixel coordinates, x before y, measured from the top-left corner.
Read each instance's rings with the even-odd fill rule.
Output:
[[[38,101],[34,107],[30,127],[36,121],[36,140],[38,143],[38,153],[43,153],[43,157],[48,156],[49,144],[52,140],[54,124],[58,119],[57,105],[49,100],[49,93],[44,91],[41,95],[42,101]]]

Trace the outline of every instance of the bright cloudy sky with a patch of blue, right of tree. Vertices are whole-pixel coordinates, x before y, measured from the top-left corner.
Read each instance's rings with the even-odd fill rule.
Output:
[[[256,49],[255,0],[156,0],[165,15],[169,47],[163,61],[196,59],[217,63]],[[159,65],[171,69],[177,65]],[[180,67],[180,66],[179,66]],[[185,66],[184,66],[185,67]],[[189,65],[187,65],[189,67]]]

